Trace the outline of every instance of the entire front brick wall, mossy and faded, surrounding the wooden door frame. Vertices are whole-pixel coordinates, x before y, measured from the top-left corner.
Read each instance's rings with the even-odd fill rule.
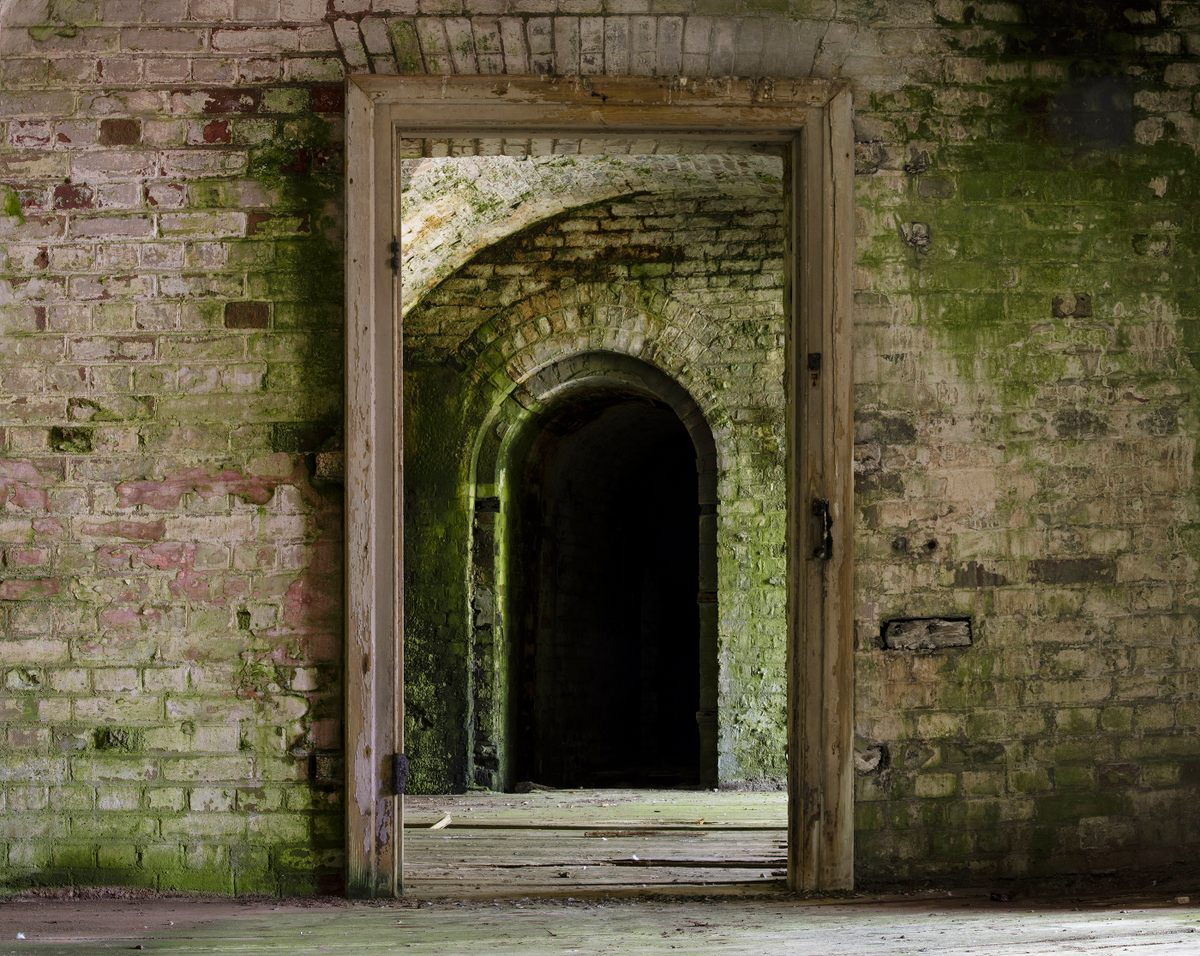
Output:
[[[847,80],[858,872],[1193,859],[1198,48],[1194,0],[6,4],[5,884],[336,883],[366,71]]]

